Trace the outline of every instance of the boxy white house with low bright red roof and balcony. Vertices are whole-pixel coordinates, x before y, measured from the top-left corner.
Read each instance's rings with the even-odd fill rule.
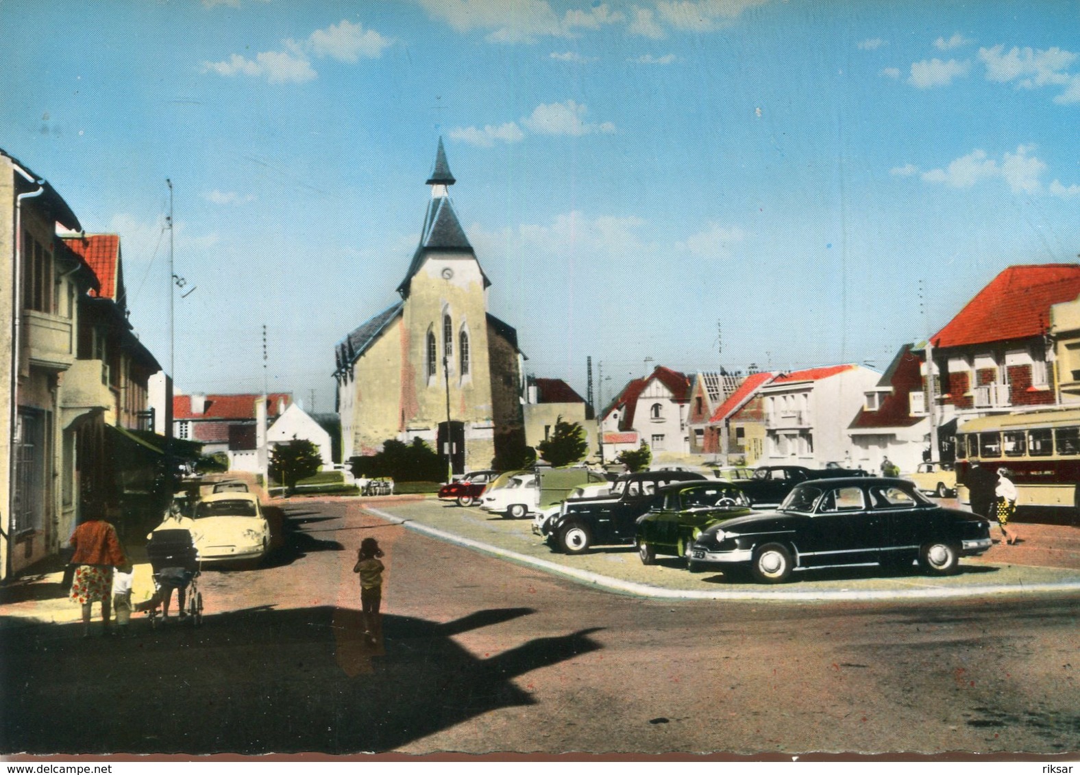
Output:
[[[765,402],[764,465],[793,463],[820,467],[845,462],[848,429],[867,391],[881,375],[856,364],[792,371],[761,387]],[[849,459],[850,460],[850,459]]]

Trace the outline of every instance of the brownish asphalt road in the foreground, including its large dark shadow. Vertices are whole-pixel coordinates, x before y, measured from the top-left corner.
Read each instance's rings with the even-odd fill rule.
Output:
[[[1080,595],[658,601],[355,502],[299,502],[284,527],[268,566],[202,575],[198,629],[139,620],[136,637],[83,640],[75,623],[0,620],[0,749],[1080,751]],[[351,572],[367,535],[388,566],[375,648]]]

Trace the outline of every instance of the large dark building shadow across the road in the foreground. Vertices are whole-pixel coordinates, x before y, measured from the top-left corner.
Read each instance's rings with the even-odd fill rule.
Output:
[[[526,640],[487,658],[455,635],[528,615],[477,611],[438,624],[383,618],[366,649],[360,613],[256,608],[138,635],[0,618],[4,753],[392,751],[498,708],[536,701],[514,679],[600,647],[594,629]]]

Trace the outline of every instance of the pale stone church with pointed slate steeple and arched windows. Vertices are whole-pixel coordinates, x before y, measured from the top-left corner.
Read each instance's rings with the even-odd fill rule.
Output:
[[[524,447],[524,355],[516,330],[487,311],[491,282],[450,203],[455,182],[440,139],[401,301],[335,348],[343,460],[419,437],[460,474]]]

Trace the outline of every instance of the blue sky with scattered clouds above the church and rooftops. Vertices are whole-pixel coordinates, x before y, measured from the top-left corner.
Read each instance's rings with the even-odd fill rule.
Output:
[[[591,356],[597,403],[657,365],[883,370],[1080,254],[1077,1],[0,0],[0,148],[120,234],[183,392],[333,411],[440,137],[489,311],[528,373],[585,395]]]

